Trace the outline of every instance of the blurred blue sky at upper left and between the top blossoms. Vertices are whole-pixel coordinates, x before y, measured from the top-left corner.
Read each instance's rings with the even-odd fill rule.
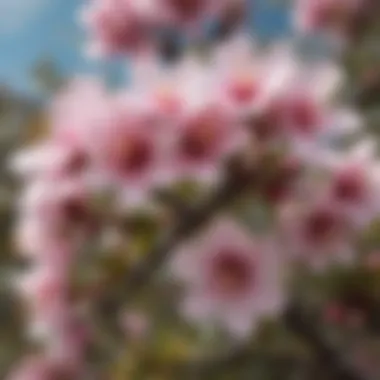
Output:
[[[255,0],[253,25],[261,35],[281,35],[287,30],[284,9]],[[120,63],[86,60],[81,52],[84,35],[76,11],[84,0],[0,0],[0,83],[18,92],[36,94],[30,70],[38,60],[54,60],[71,75],[120,72]]]

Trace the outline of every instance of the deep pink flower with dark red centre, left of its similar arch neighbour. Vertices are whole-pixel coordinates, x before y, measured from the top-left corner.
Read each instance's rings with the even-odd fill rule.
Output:
[[[115,185],[129,205],[141,205],[164,177],[165,130],[145,107],[117,98],[93,130],[89,151],[100,182]]]

